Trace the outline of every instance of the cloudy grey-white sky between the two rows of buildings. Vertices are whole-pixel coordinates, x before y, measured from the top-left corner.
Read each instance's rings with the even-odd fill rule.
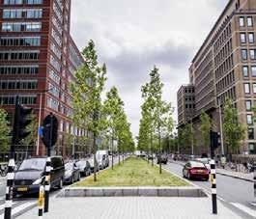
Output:
[[[72,0],[71,36],[81,50],[96,43],[107,67],[105,92],[116,86],[133,137],[138,135],[141,86],[156,65],[163,99],[175,107],[188,68],[228,0]]]

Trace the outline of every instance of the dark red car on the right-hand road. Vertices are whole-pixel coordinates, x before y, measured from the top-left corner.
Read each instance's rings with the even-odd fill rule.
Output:
[[[198,178],[198,179],[209,179],[210,171],[207,169],[205,164],[197,161],[188,161],[183,169],[184,178]]]

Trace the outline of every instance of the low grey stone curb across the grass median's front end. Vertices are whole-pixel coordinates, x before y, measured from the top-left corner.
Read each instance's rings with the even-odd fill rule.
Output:
[[[208,197],[201,188],[190,187],[73,187],[64,189],[58,198],[68,197]]]

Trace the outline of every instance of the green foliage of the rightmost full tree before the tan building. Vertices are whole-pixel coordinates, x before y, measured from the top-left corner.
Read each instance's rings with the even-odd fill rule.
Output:
[[[224,106],[223,132],[231,151],[239,153],[240,141],[245,137],[245,127],[239,122],[238,110],[230,99],[225,102]]]

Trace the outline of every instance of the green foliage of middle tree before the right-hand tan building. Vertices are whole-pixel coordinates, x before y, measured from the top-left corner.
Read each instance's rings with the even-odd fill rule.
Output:
[[[199,130],[201,131],[204,149],[208,149],[210,146],[210,129],[212,126],[212,122],[209,115],[205,111],[202,111],[202,114],[200,116],[200,121],[201,121],[201,124],[200,124]]]

